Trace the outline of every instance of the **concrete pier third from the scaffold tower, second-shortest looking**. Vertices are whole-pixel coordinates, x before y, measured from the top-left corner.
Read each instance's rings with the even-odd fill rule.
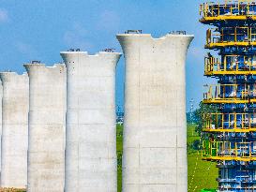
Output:
[[[66,82],[64,64],[24,65],[29,76],[28,192],[63,192]]]

